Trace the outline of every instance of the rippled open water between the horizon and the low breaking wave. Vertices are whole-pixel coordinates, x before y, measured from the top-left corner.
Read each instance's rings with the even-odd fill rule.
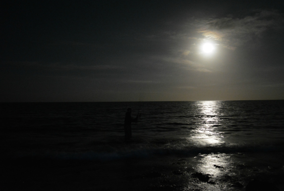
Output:
[[[141,114],[132,125],[140,149],[275,149],[284,140],[284,101],[2,103],[1,128],[29,150],[119,151],[128,107]]]

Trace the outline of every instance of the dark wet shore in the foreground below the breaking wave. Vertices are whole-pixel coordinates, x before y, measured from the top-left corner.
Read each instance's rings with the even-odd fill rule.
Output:
[[[269,163],[222,153],[107,162],[22,158],[1,163],[0,190],[245,191],[259,180],[283,191],[283,166]]]

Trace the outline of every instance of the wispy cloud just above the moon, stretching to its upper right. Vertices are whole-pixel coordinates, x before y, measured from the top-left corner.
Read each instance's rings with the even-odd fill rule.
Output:
[[[199,32],[207,39],[221,42],[225,47],[236,47],[253,43],[262,38],[267,31],[283,30],[284,17],[277,10],[254,10],[253,15],[243,18],[209,18],[199,22]]]

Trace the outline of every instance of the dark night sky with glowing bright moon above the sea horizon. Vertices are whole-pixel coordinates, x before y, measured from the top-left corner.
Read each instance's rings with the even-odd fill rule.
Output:
[[[283,13],[271,0],[1,0],[0,102],[284,99]]]

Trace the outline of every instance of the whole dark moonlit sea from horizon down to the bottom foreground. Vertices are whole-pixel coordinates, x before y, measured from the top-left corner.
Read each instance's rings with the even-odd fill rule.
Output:
[[[124,117],[132,108],[132,138]],[[0,103],[0,190],[284,191],[284,100]]]

